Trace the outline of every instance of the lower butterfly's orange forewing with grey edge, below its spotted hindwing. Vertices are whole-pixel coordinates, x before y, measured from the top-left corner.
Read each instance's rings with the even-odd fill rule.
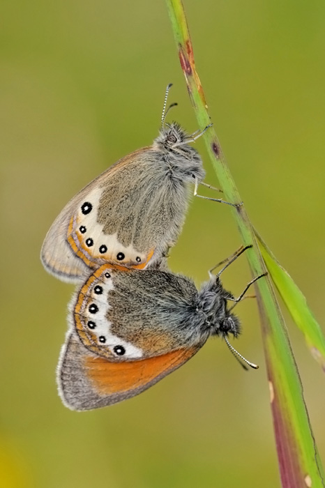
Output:
[[[75,332],[68,333],[57,371],[59,394],[72,410],[109,406],[147,390],[186,363],[200,347],[116,363],[91,353]]]

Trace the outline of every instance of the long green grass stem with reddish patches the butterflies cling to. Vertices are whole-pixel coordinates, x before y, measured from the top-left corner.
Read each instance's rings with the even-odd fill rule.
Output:
[[[195,68],[183,4],[181,0],[166,0],[166,3],[190,100],[199,128],[203,130],[210,123],[210,118],[202,84]],[[241,197],[222,154],[215,130],[207,130],[203,137],[225,199],[238,204]],[[232,213],[243,245],[253,245],[245,252],[252,275],[261,275],[265,271],[264,261],[245,207],[237,206]],[[258,280],[255,285],[282,487],[321,488],[324,487],[323,468],[310,427],[303,388],[287,329],[269,277]]]

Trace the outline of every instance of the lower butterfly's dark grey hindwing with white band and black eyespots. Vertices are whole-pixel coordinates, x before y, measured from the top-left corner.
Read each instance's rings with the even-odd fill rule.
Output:
[[[98,356],[144,359],[204,340],[196,319],[190,321],[196,303],[197,289],[186,277],[105,264],[73,298],[70,323],[82,344]]]

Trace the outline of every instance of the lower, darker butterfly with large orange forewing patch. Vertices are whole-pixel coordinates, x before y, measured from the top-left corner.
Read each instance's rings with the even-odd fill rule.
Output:
[[[259,277],[234,298],[220,273],[198,291],[183,275],[100,266],[70,304],[57,369],[63,404],[83,411],[134,397],[186,363],[211,336],[223,337],[256,368],[227,340],[240,333],[228,303],[239,302]]]

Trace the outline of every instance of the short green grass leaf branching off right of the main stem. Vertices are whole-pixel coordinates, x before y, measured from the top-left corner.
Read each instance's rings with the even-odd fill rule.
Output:
[[[282,300],[292,315],[292,319],[294,319],[294,322],[305,336],[305,341],[312,356],[325,372],[325,338],[322,329],[319,327],[319,323],[317,323],[317,320],[307,305],[305,296],[298,289],[292,277],[287,273],[285,268],[282,268],[261,236],[257,233],[255,234],[266,268],[271,275],[275,287],[278,289]]]

